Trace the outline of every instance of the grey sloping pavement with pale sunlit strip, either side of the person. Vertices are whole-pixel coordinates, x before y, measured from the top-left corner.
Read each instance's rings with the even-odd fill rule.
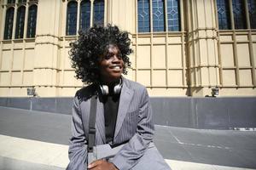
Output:
[[[0,169],[59,170],[68,163],[71,116],[0,106]],[[173,170],[256,169],[256,132],[156,126]]]

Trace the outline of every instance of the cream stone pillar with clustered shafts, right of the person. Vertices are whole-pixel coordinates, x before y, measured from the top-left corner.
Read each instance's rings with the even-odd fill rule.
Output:
[[[188,1],[188,51],[190,94],[211,95],[219,86],[219,61],[215,1]]]

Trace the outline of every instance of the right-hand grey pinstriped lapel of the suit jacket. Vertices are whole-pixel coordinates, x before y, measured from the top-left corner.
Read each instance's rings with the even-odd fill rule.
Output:
[[[122,123],[124,122],[125,116],[127,114],[128,108],[131,103],[131,99],[133,96],[133,90],[127,87],[126,85],[126,80],[123,78],[123,88],[120,94],[120,100],[119,100],[119,111],[118,111],[118,116],[116,120],[116,127],[114,131],[114,137],[113,139],[116,138],[116,136],[119,133],[120,128],[122,127]]]

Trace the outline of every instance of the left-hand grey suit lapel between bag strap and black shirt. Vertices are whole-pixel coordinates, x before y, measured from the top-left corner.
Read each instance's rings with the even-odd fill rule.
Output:
[[[105,118],[104,118],[104,106],[97,98],[97,111],[96,111],[96,130],[100,133],[103,143],[106,142],[105,135]]]

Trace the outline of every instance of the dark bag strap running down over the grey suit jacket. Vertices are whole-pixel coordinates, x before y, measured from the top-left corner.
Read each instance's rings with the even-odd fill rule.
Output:
[[[87,146],[88,152],[93,152],[93,145],[95,143],[96,107],[97,107],[97,95],[93,95],[90,99],[89,139],[88,139],[88,146]]]

